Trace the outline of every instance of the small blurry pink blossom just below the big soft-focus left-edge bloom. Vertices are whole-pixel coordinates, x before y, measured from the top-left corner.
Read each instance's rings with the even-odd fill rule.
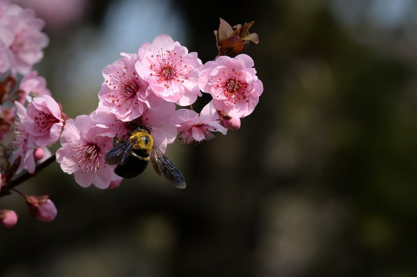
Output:
[[[26,101],[26,95],[31,95],[33,97],[51,95],[49,89],[46,88],[46,79],[42,76],[38,76],[36,70],[29,72],[22,78],[19,84],[19,90],[22,91],[19,102],[24,104]]]

